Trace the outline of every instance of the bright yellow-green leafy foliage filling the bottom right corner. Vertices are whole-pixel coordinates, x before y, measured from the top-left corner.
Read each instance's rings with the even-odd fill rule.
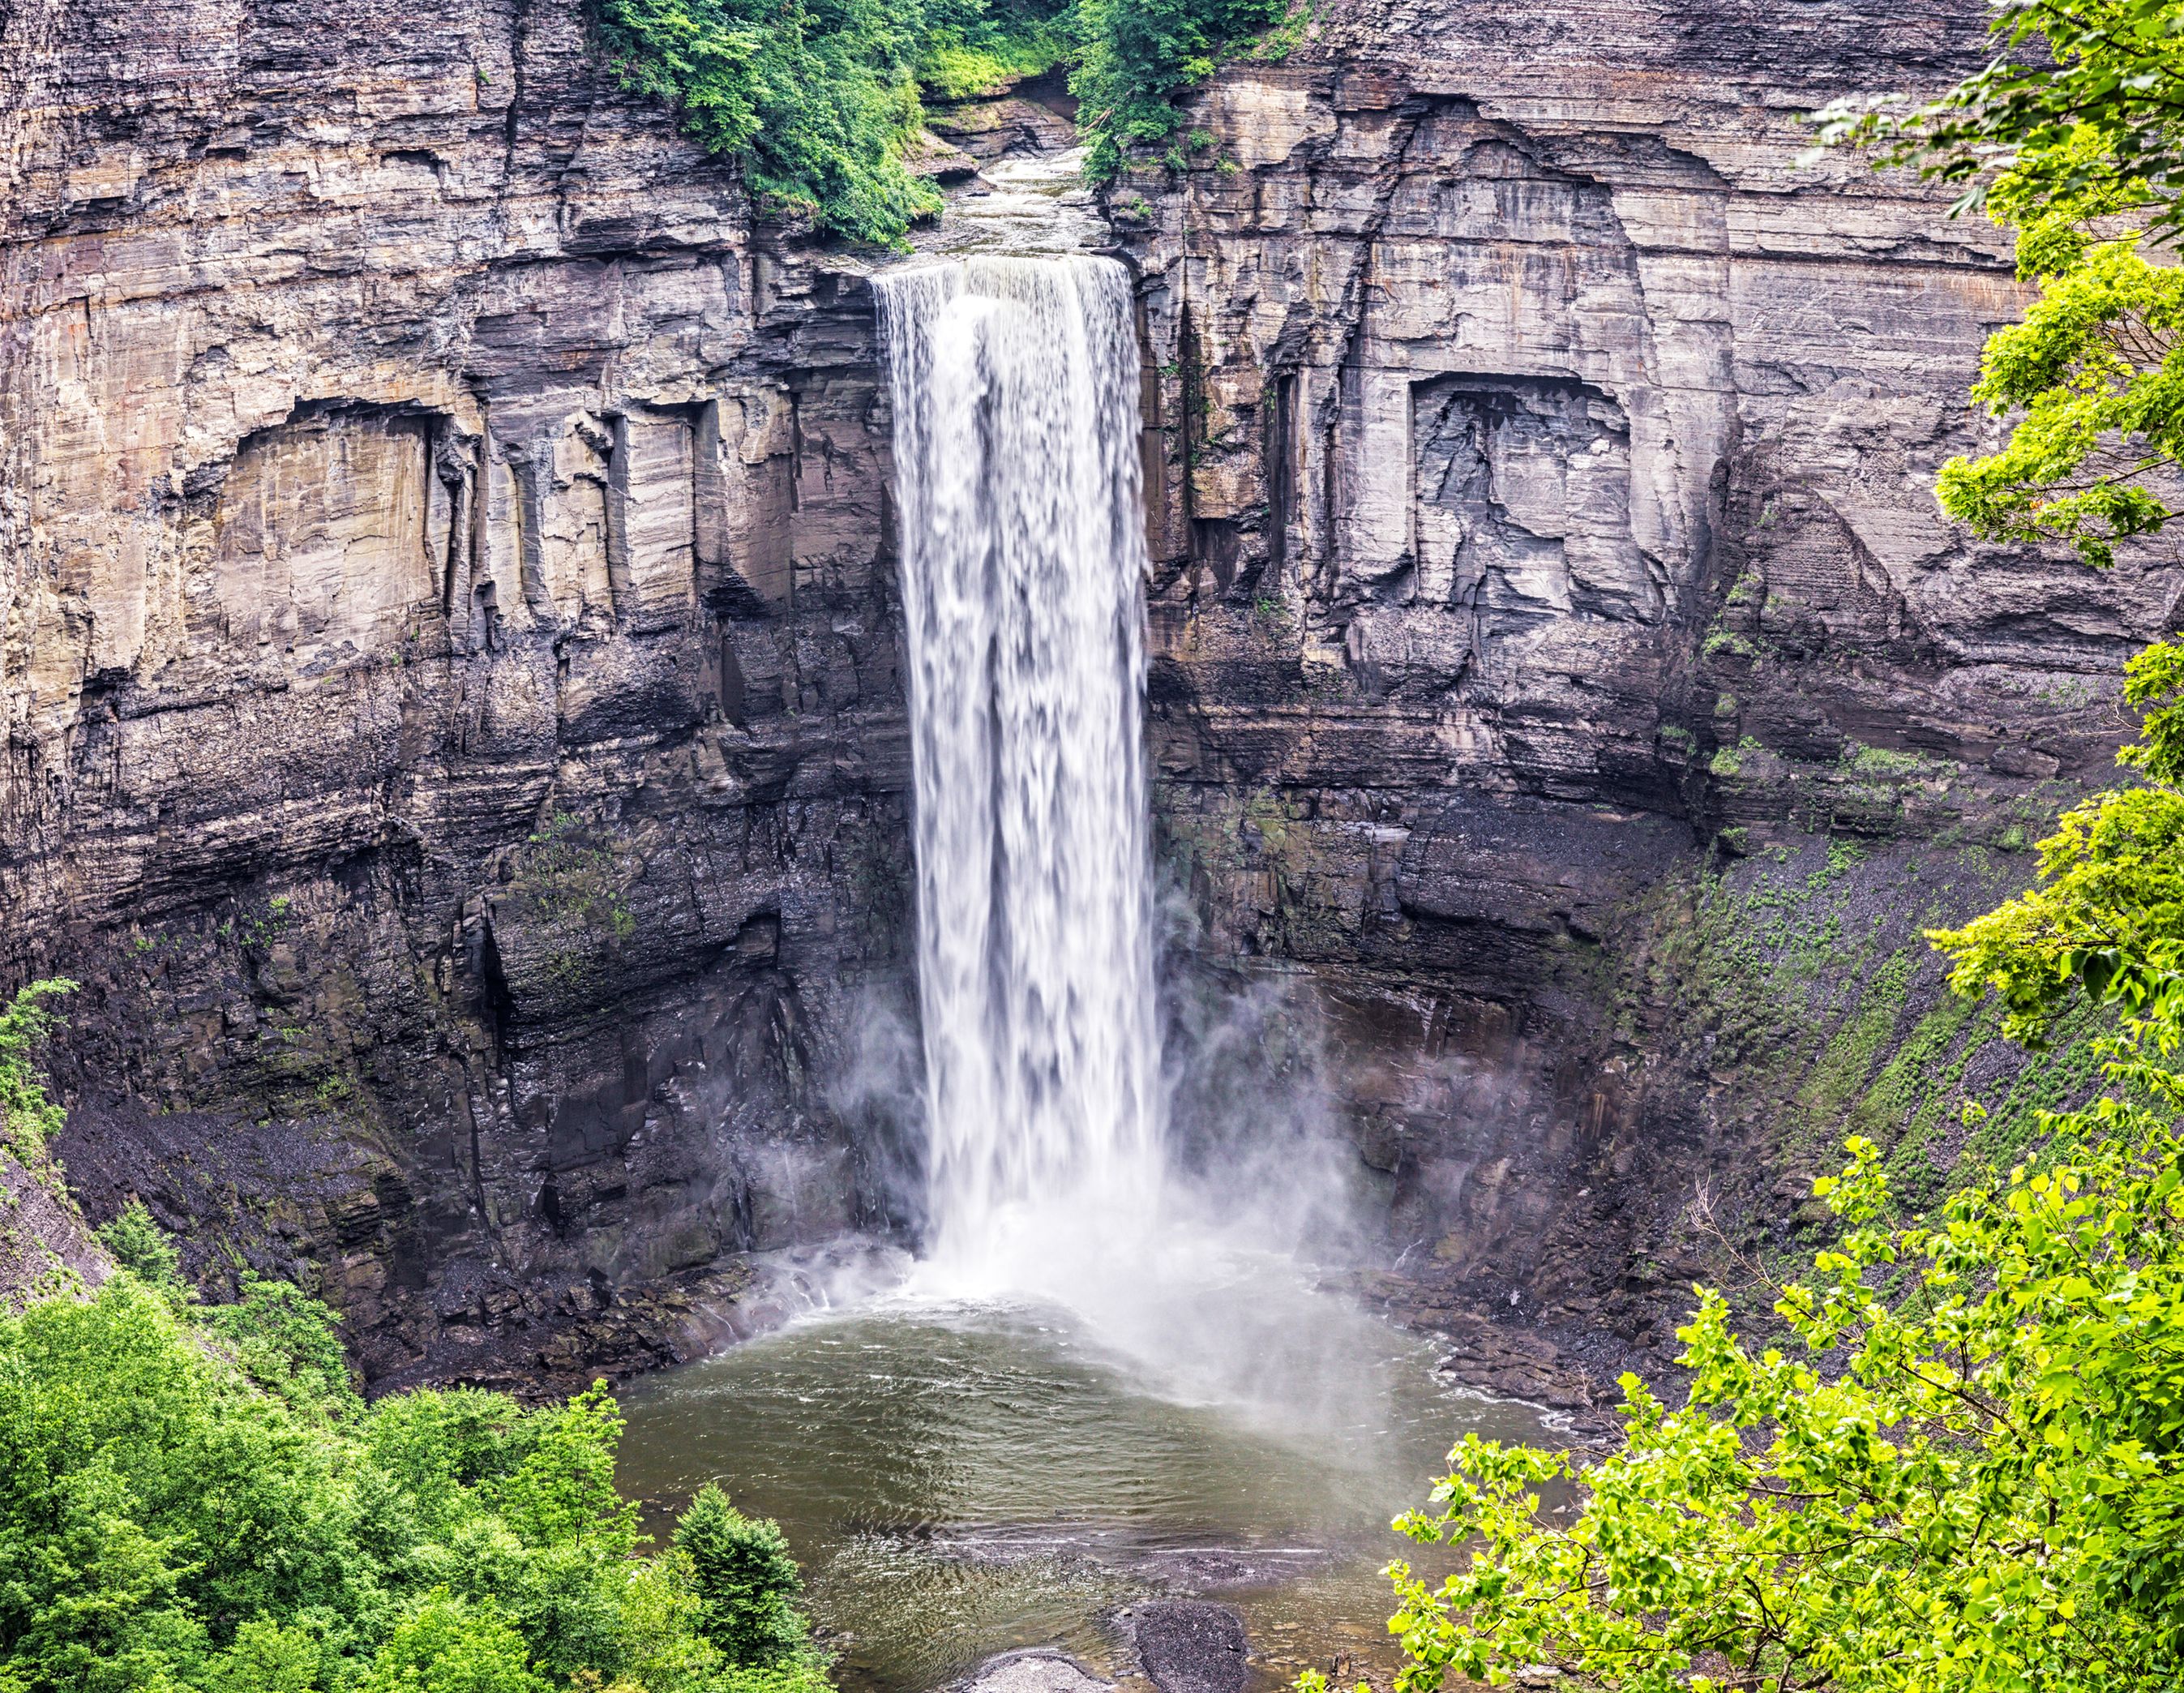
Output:
[[[2145,1053],[2116,1046],[2138,1081]],[[1623,1378],[1623,1446],[1465,1437],[1406,1516],[1474,1542],[1391,1568],[1402,1693],[1450,1673],[1575,1686],[2162,1689],[2184,1676],[2184,1147],[2105,1099],[2070,1162],[1885,1228],[1878,1149],[1817,1191],[1850,1232],[1776,1313],[1811,1359],[1754,1354],[1719,1293],[1677,1330],[1671,1411]],[[1913,1298],[1876,1280],[1909,1267]],[[1575,1518],[1542,1483],[1583,1481]]]

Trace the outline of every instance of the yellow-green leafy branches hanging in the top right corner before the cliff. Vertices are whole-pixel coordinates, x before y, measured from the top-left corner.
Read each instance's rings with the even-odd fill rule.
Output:
[[[2062,540],[2105,566],[2169,522],[2184,450],[2184,277],[2140,253],[2184,234],[2184,7],[2007,0],[1994,31],[1994,63],[1939,100],[1839,103],[1821,133],[2016,225],[2040,299],[1987,341],[1972,398],[2018,422],[2001,452],[1944,465],[1937,494],[1990,540]]]

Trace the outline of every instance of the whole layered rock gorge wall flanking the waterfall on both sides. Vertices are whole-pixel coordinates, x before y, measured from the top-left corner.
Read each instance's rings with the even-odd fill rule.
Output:
[[[2167,557],[1931,498],[2001,234],[1797,166],[1981,26],[1334,4],[1109,194],[1177,970],[1317,1018],[1424,1319],[1642,1346],[1695,1177],[1787,1228],[1784,1110],[1878,1110],[1946,1016],[1911,931],[2125,734]],[[572,4],[0,44],[0,985],[83,983],[87,1210],[314,1280],[378,1381],[631,1368],[736,1254],[915,1228],[871,256],[753,221]]]

